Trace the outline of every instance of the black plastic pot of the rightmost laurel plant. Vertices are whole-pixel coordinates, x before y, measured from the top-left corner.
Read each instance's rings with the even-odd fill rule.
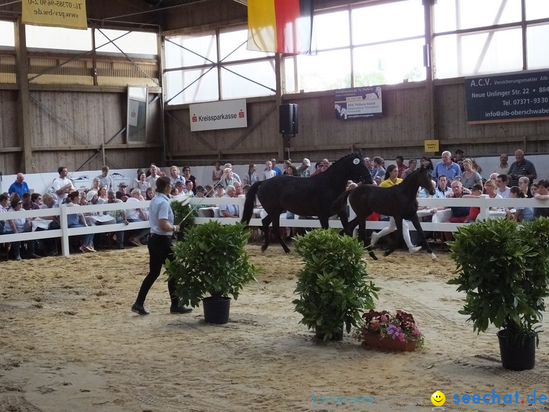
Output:
[[[536,337],[519,336],[515,338],[507,334],[506,329],[497,331],[500,341],[501,364],[505,369],[528,370],[534,369],[536,362]]]

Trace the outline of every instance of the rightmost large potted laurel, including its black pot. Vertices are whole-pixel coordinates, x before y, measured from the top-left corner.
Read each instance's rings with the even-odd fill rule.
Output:
[[[549,296],[549,219],[492,219],[460,227],[450,242],[457,275],[448,283],[467,293],[460,313],[473,330],[497,332],[503,368],[533,369],[544,298]]]

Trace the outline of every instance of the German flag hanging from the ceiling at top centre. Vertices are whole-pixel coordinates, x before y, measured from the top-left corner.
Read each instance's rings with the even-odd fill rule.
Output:
[[[313,0],[248,0],[248,50],[316,54]]]

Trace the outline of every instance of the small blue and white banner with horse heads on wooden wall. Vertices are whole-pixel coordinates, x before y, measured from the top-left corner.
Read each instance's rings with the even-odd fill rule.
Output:
[[[335,91],[335,118],[339,120],[380,118],[381,87],[351,87]]]

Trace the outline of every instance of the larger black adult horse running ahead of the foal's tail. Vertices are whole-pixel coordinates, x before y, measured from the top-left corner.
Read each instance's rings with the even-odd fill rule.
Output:
[[[348,154],[326,171],[311,177],[279,175],[255,182],[246,195],[242,222],[249,224],[257,195],[267,212],[267,216],[261,221],[265,237],[261,250],[269,246],[269,225],[272,222],[273,233],[284,252],[288,253],[290,249],[284,243],[279,230],[281,213],[288,210],[299,216],[318,216],[323,229],[328,229],[330,216],[337,214],[345,227],[348,222],[346,208],[334,210],[333,203],[345,191],[348,180],[372,183],[372,176],[360,154]]]

